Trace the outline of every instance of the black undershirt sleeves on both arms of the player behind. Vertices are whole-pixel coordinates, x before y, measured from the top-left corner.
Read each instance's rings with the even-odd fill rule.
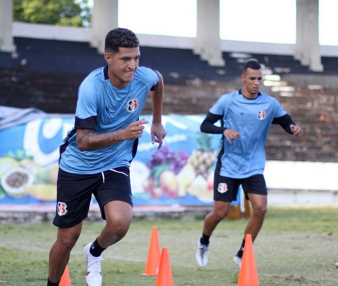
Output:
[[[218,127],[214,125],[222,117],[223,117],[222,115],[217,115],[217,114],[213,114],[209,112],[207,117],[203,120],[201,124],[201,127],[200,127],[201,132],[210,133],[210,134],[223,134],[224,130],[227,128],[223,126]],[[272,124],[281,125],[282,128],[289,134],[293,134],[290,129],[290,124],[296,125],[296,123],[294,123],[294,121],[292,120],[291,116],[288,114],[273,118]]]

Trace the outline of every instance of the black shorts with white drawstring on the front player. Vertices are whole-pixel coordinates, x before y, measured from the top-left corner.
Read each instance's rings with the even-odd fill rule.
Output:
[[[92,194],[103,219],[103,207],[107,202],[120,200],[132,206],[129,168],[118,167],[96,174],[73,174],[59,168],[53,224],[70,228],[80,223],[88,216]]]

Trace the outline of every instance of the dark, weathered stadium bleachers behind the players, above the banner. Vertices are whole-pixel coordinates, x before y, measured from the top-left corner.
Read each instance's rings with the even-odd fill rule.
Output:
[[[85,42],[15,38],[15,44],[15,53],[0,52],[0,105],[74,113],[79,84],[105,65],[103,56]],[[211,67],[189,49],[141,47],[140,51],[140,65],[159,70],[164,77],[164,114],[206,114],[221,94],[242,86],[245,58],[232,53],[223,53],[225,67]],[[322,57],[324,71],[317,73],[289,55],[246,56],[258,59],[294,87],[291,97],[270,87],[263,86],[262,91],[276,97],[306,132],[292,137],[280,126],[271,126],[267,159],[338,162],[338,85],[334,85],[338,58]],[[325,83],[320,90],[308,88],[314,78]],[[150,98],[143,113],[151,113]]]

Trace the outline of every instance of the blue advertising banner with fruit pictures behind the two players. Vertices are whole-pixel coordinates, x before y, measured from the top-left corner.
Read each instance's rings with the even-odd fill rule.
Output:
[[[201,133],[203,119],[163,116],[167,136],[159,150],[145,125],[130,166],[134,205],[213,204],[221,135]],[[74,117],[47,116],[0,130],[0,204],[55,204],[59,145],[73,125]]]

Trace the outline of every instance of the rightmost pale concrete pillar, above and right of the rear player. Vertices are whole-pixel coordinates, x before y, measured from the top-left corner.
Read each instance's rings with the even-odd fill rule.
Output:
[[[321,64],[318,0],[296,0],[296,45],[294,58],[312,71],[323,71]]]

